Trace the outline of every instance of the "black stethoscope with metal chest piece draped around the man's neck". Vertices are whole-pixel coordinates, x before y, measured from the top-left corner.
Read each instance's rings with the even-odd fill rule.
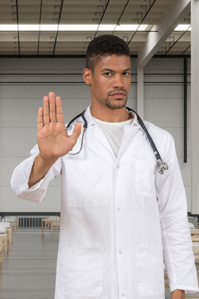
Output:
[[[169,167],[168,167],[168,165],[167,165],[166,162],[163,162],[163,161],[162,161],[162,158],[161,158],[161,156],[160,156],[160,154],[159,154],[159,152],[158,152],[158,149],[157,149],[157,147],[155,146],[155,143],[153,142],[153,139],[151,138],[151,135],[149,134],[148,130],[146,129],[146,126],[144,125],[142,119],[141,119],[140,116],[137,114],[137,112],[135,112],[133,109],[128,108],[128,107],[126,107],[126,109],[127,109],[128,111],[133,111],[133,113],[136,114],[136,116],[137,116],[137,118],[138,118],[138,121],[139,121],[139,123],[140,123],[142,129],[144,129],[144,132],[146,133],[146,136],[147,136],[147,138],[149,139],[149,142],[150,142],[151,147],[152,147],[152,149],[153,149],[153,152],[154,152],[154,154],[155,154],[155,158],[156,158],[156,160],[157,160],[157,161],[156,161],[156,164],[155,164],[155,167],[156,167],[156,169],[158,170],[158,172],[159,172],[160,174],[164,174],[164,170],[168,170]],[[86,118],[85,118],[85,116],[84,116],[85,111],[86,111],[86,110],[84,110],[81,114],[78,114],[77,116],[75,116],[75,118],[73,118],[72,120],[70,120],[70,123],[68,123],[68,125],[66,126],[66,131],[67,131],[68,128],[70,127],[70,125],[72,125],[72,123],[73,123],[77,118],[79,118],[80,116],[82,116],[82,119],[84,120],[84,125],[83,125],[83,128],[84,128],[84,129],[83,129],[83,133],[82,133],[82,142],[81,142],[81,145],[80,145],[79,152],[76,152],[76,153],[74,153],[74,154],[68,152],[68,154],[73,155],[73,156],[79,154],[80,152],[82,152],[82,146],[83,146],[83,141],[84,141],[84,134],[85,134],[86,129],[87,129],[87,127],[88,127],[87,120],[86,120]]]

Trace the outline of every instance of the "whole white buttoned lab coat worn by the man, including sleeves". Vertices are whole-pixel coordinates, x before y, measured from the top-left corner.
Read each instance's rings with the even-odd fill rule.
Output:
[[[124,127],[117,158],[89,108],[85,116],[88,129],[80,154],[59,158],[44,179],[28,189],[38,154],[35,147],[11,180],[19,197],[39,202],[50,180],[61,172],[55,299],[163,299],[164,264],[171,291],[198,291],[187,201],[173,138],[145,122],[169,165],[161,175],[136,116],[132,125]]]

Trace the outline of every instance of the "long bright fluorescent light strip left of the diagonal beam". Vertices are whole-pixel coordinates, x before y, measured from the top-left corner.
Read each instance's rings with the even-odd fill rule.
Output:
[[[114,24],[104,24],[98,25],[96,24],[60,24],[59,28],[58,25],[53,24],[19,24],[19,31],[135,31],[135,30],[146,30],[148,25],[138,25],[135,24],[124,24],[124,25],[117,25]],[[17,24],[1,24],[0,31],[17,31],[18,26]]]

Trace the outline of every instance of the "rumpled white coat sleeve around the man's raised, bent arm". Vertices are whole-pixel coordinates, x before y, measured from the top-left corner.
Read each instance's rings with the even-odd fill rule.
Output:
[[[47,174],[44,179],[41,179],[38,183],[28,188],[28,179],[32,170],[32,164],[35,157],[39,154],[38,146],[35,145],[30,151],[30,157],[21,162],[14,170],[11,178],[12,190],[17,197],[26,199],[28,201],[40,202],[46,195],[48,185],[51,180],[55,179],[61,172],[61,158],[59,158]]]

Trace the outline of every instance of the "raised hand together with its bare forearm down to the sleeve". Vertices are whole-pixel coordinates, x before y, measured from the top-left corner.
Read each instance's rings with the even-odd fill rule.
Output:
[[[64,125],[61,98],[50,92],[44,97],[44,107],[40,107],[37,116],[37,143],[39,154],[35,158],[30,172],[29,188],[44,178],[50,167],[61,156],[70,152],[81,133],[82,125],[77,123],[73,134],[68,136]]]

